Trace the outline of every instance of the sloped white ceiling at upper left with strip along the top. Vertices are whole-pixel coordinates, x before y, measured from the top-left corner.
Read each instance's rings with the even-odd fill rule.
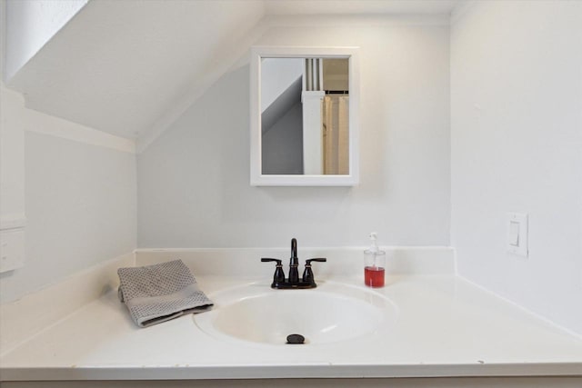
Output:
[[[144,142],[246,53],[269,15],[448,14],[456,4],[91,0],[8,86],[32,109]]]

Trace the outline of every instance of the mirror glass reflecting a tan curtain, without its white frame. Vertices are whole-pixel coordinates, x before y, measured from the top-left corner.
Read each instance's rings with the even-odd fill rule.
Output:
[[[349,59],[261,59],[262,174],[349,173]]]

